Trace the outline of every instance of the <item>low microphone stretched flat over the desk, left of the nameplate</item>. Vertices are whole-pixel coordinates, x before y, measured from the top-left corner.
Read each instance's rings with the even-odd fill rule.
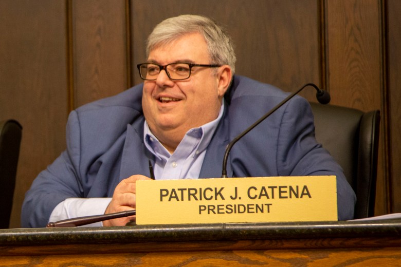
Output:
[[[72,219],[61,220],[57,222],[49,222],[46,227],[76,227],[81,225],[86,225],[90,223],[117,219],[122,217],[129,217],[136,214],[136,210],[133,209],[132,211],[125,211],[125,212],[116,212],[110,214],[102,214],[102,215],[94,215],[94,216],[84,216],[84,217],[77,217]]]

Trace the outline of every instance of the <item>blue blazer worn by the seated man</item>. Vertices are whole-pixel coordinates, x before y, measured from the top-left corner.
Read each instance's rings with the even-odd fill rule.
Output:
[[[142,86],[70,113],[67,148],[39,174],[26,193],[23,227],[45,226],[53,208],[66,198],[112,197],[122,179],[135,174],[150,176],[148,159],[154,161],[154,158],[143,144]],[[199,178],[221,177],[229,141],[287,95],[274,86],[235,75]],[[311,107],[301,97],[280,107],[233,146],[227,174],[228,177],[336,175],[338,219],[354,216],[355,194],[341,167],[317,143]]]

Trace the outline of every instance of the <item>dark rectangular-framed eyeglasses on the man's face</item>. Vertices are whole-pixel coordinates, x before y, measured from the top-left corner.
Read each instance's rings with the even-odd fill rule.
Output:
[[[170,63],[164,66],[155,63],[142,63],[137,65],[141,78],[147,81],[156,80],[161,70],[166,71],[166,74],[170,80],[185,80],[191,76],[191,69],[193,67],[216,68],[221,66],[222,65],[205,65],[182,62]]]

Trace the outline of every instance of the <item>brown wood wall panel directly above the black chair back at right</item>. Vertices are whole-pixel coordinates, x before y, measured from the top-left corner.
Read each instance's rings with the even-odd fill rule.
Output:
[[[326,66],[332,104],[363,111],[381,109],[384,94],[379,0],[326,0]],[[381,109],[382,122],[386,113]],[[383,123],[381,123],[383,125]],[[382,127],[381,127],[382,128]],[[380,131],[376,214],[387,213],[386,146]]]

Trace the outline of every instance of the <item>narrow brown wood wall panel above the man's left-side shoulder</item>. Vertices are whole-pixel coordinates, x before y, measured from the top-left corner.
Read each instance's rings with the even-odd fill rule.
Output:
[[[75,108],[129,87],[125,4],[124,0],[72,2]]]

